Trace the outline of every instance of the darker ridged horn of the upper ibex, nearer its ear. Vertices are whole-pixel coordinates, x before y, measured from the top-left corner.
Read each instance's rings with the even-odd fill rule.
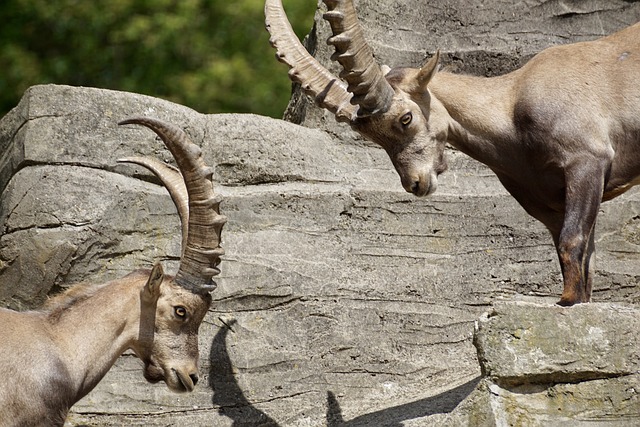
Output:
[[[358,116],[384,113],[391,105],[394,91],[365,41],[353,0],[322,1],[329,9],[323,18],[333,32],[327,43],[336,49],[331,59],[344,68],[340,77],[349,83],[347,90],[353,94],[351,103],[360,107]]]

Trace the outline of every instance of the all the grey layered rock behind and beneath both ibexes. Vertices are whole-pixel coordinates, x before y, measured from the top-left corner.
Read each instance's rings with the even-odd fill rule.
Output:
[[[548,44],[640,19],[640,3],[624,1],[436,1],[429,10],[400,3],[358,2],[382,61],[418,63],[421,49],[433,46],[461,69],[480,64],[489,74]],[[317,27],[311,39],[322,40],[324,24]],[[122,119],[149,115],[183,127],[215,165],[216,190],[226,197],[226,255],[200,329],[205,380],[192,394],[174,395],[147,384],[137,359],[125,355],[75,406],[69,425],[509,425],[512,408],[542,414],[532,425],[545,425],[555,412],[543,413],[543,400],[528,403],[534,394],[565,399],[555,419],[569,425],[588,419],[575,414],[584,415],[593,396],[608,396],[609,383],[628,385],[610,405],[626,412],[596,419],[635,420],[637,350],[616,355],[637,349],[637,334],[614,339],[606,326],[630,322],[629,331],[638,330],[637,314],[620,306],[640,302],[637,191],[602,207],[597,304],[556,309],[561,275],[547,232],[486,168],[451,151],[438,192],[416,199],[382,150],[297,99],[291,111],[305,126],[207,116],[136,94],[36,86],[2,118],[3,305],[34,307],[75,282],[157,261],[175,271],[180,231],[169,195],[141,168],[116,163],[171,156],[152,132],[117,126]],[[496,304],[504,300],[543,306]],[[481,368],[474,324],[487,310],[493,314],[475,340]],[[543,330],[527,321],[532,311],[549,317],[539,322]],[[573,338],[592,359],[542,345],[567,337],[554,331],[580,327]],[[501,337],[511,340],[505,350]],[[526,343],[538,346],[527,363]],[[522,364],[503,362],[511,350]],[[560,378],[557,369],[572,373]]]

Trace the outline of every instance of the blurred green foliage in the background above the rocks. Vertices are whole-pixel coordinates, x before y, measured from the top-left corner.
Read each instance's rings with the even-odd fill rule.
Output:
[[[303,37],[316,2],[283,3]],[[41,83],[144,93],[202,113],[281,117],[291,85],[263,10],[264,0],[3,0],[0,117]]]

